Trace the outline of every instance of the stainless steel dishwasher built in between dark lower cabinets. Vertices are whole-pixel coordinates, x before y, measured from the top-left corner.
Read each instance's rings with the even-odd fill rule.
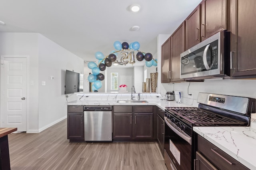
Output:
[[[84,106],[84,140],[112,141],[112,106]]]

